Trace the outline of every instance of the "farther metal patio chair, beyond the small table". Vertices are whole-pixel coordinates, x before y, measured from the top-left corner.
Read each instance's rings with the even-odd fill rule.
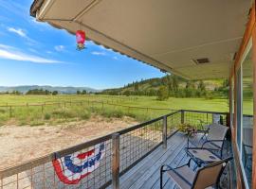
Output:
[[[190,144],[193,147],[208,148],[214,153],[220,152],[220,157],[222,157],[224,142],[228,130],[229,128],[226,126],[213,123],[209,126],[205,139],[202,137],[188,137],[187,148],[190,148]],[[198,132],[195,135],[200,133],[202,132]]]

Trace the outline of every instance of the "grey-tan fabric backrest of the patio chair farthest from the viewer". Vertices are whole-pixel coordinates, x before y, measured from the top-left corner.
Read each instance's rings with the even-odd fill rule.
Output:
[[[209,133],[207,136],[208,140],[224,140],[228,131],[228,127],[220,124],[211,124]]]

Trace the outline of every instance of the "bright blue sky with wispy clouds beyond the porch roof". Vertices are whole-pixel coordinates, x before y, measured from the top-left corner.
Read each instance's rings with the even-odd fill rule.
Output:
[[[31,3],[0,0],[0,86],[106,89],[164,76],[152,66],[91,42],[77,51],[75,36],[29,16]]]

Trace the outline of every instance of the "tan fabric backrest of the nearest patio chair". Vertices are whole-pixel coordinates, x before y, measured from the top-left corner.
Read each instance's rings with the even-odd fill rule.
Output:
[[[216,185],[220,180],[224,168],[231,159],[232,158],[230,157],[219,162],[210,163],[205,167],[200,168],[193,180],[192,189],[205,189]]]

